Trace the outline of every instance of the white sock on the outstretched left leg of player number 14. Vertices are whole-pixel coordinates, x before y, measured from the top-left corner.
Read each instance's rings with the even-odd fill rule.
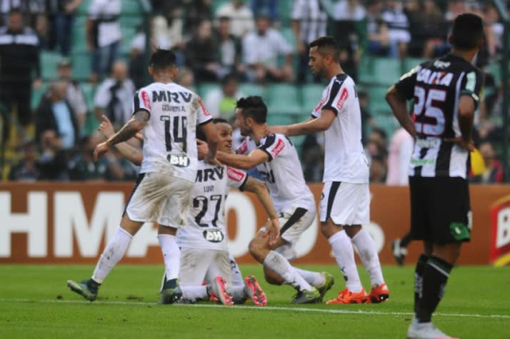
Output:
[[[110,273],[115,265],[122,259],[124,253],[126,253],[132,238],[133,236],[131,236],[131,234],[119,227],[114,238],[112,238],[108,245],[106,245],[106,248],[104,248],[101,258],[99,258],[96,264],[94,274],[92,275],[92,279],[94,279],[96,283],[103,283],[103,280],[106,279],[106,275]]]

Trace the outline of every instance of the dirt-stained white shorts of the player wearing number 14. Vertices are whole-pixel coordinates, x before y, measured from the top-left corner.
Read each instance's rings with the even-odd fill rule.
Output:
[[[194,183],[169,174],[141,173],[131,192],[126,213],[132,221],[157,221],[180,228],[188,213]]]

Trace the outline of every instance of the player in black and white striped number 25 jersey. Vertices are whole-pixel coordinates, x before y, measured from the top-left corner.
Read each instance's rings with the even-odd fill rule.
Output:
[[[416,66],[389,88],[386,100],[416,139],[409,167],[411,236],[424,241],[414,274],[414,319],[407,338],[450,338],[435,328],[432,313],[471,238],[466,181],[471,128],[483,76],[471,64],[484,39],[479,16],[461,14],[449,36],[451,54]],[[414,99],[413,116],[406,101]]]

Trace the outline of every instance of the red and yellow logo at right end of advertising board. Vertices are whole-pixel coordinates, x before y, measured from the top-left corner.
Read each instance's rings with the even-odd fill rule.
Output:
[[[495,266],[510,264],[510,196],[504,196],[491,206],[491,254]]]

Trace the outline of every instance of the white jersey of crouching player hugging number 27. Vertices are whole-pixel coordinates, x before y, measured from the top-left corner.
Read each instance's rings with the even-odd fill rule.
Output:
[[[237,153],[248,154],[254,149],[267,153],[269,161],[256,166],[264,177],[277,213],[288,206],[311,210],[314,196],[304,181],[296,148],[284,134],[271,134],[261,139],[257,146],[251,138],[245,138]]]

